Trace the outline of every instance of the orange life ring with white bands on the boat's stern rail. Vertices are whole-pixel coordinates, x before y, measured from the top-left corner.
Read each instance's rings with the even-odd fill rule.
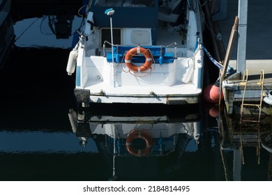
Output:
[[[139,54],[143,54],[146,58],[146,61],[143,65],[136,66],[133,64],[132,59],[133,56],[137,56]],[[144,72],[148,70],[152,65],[152,61],[153,58],[151,52],[149,49],[144,49],[144,47],[133,47],[132,49],[128,50],[125,56],[126,67],[128,67],[128,69],[132,70],[133,72]]]

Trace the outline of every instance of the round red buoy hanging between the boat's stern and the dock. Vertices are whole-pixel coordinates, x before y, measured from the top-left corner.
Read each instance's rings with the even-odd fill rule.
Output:
[[[221,93],[220,93],[220,91],[221,91]],[[222,92],[222,89],[220,90],[220,88],[219,88],[218,81],[216,81],[216,83],[214,83],[214,84],[210,84],[204,90],[204,100],[206,102],[218,103],[219,100],[222,100],[223,98],[224,98],[223,92]]]

